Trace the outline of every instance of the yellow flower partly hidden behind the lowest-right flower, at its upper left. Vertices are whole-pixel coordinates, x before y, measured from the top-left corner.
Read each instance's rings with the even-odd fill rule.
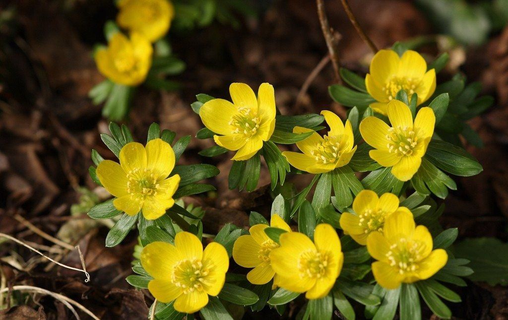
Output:
[[[367,236],[374,232],[383,232],[385,219],[392,213],[407,211],[399,207],[399,198],[386,193],[381,197],[372,190],[362,190],[353,201],[356,214],[344,212],[340,216],[340,228],[361,245],[367,244]]]

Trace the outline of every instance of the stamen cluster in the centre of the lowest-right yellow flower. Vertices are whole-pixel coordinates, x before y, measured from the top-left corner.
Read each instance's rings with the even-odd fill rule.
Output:
[[[418,270],[418,262],[424,258],[422,252],[425,250],[425,243],[401,238],[397,243],[390,246],[386,257],[390,266],[399,269],[399,274],[415,272]]]

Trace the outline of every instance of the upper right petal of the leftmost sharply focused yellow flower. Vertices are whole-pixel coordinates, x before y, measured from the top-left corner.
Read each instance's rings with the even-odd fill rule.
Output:
[[[175,152],[173,148],[162,139],[148,141],[146,150],[146,168],[152,170],[156,179],[169,176],[175,167]]]

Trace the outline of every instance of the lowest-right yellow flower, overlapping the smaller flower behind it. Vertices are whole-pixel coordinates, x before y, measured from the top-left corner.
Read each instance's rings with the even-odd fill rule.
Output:
[[[383,233],[374,231],[367,238],[372,273],[379,285],[397,289],[401,282],[412,283],[433,276],[446,265],[448,254],[432,250],[432,236],[424,226],[415,228],[409,211],[397,211],[386,218]]]

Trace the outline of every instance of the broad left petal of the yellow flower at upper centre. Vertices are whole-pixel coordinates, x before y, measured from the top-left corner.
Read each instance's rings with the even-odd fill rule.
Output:
[[[229,122],[237,113],[237,108],[224,99],[210,100],[199,109],[203,124],[219,135],[230,135],[234,131]]]

